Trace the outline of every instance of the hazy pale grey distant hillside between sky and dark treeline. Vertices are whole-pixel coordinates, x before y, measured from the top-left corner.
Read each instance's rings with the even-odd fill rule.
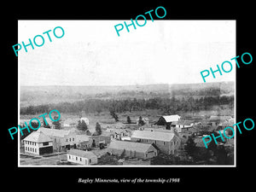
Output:
[[[154,97],[233,96],[234,82],[207,84],[146,84],[125,86],[20,86],[20,106],[84,99],[149,99]]]

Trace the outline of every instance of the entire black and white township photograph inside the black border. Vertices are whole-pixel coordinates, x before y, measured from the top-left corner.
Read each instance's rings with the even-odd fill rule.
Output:
[[[236,166],[236,20],[119,23],[19,20],[19,166]]]

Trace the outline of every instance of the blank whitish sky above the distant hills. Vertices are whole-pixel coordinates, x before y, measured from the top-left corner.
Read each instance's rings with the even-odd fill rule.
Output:
[[[19,51],[20,85],[130,85],[203,83],[201,71],[236,56],[236,20],[19,20],[18,43],[44,37],[44,45]],[[56,26],[62,38],[43,32]],[[60,32],[56,30],[56,33]],[[57,34],[59,35],[59,34]],[[38,38],[40,43],[40,39]],[[39,44],[38,43],[38,44]],[[233,70],[207,82],[235,81]]]

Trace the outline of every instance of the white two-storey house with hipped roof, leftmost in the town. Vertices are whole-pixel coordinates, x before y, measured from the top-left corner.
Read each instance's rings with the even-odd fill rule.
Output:
[[[23,139],[25,153],[50,154],[53,152],[53,143],[50,137],[42,131],[33,131]]]

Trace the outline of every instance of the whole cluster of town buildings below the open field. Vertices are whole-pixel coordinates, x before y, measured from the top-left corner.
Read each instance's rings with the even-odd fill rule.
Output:
[[[191,120],[181,119],[177,114],[161,116],[154,125],[149,125],[148,119],[145,120],[146,125],[138,130],[107,128],[98,136],[81,135],[75,129],[66,131],[41,127],[23,139],[25,153],[42,155],[67,151],[67,161],[87,166],[97,164],[97,156],[90,148],[101,150],[107,147],[108,154],[148,160],[157,156],[159,152],[177,154],[183,148],[180,133],[200,125]],[[231,117],[215,119],[212,116],[209,123],[224,126],[231,120]]]

